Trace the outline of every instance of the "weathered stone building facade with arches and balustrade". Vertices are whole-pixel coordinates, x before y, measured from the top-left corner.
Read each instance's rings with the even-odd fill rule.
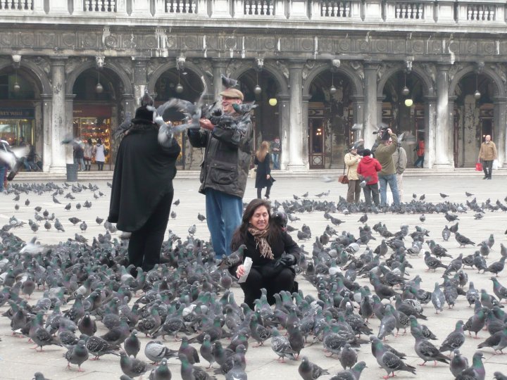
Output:
[[[491,134],[506,165],[506,17],[501,0],[0,0],[0,136],[44,171],[65,170],[70,135],[103,139],[111,164],[144,91],[211,103],[226,75],[284,170],[341,168],[380,122],[407,132],[409,163],[422,139],[425,167],[472,167]]]

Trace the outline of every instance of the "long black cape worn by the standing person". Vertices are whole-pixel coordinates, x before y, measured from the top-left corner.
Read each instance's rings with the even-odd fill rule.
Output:
[[[137,128],[141,128],[140,130]],[[173,192],[180,145],[158,144],[156,127],[133,125],[116,156],[108,221],[118,229],[134,232],[146,223],[166,194]]]

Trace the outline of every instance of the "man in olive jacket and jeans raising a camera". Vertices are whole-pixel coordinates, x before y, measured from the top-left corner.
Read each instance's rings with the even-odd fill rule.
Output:
[[[382,165],[382,170],[378,173],[380,182],[380,203],[387,204],[387,184],[393,194],[395,205],[399,205],[398,186],[396,184],[396,167],[394,165],[393,153],[398,148],[398,137],[391,128],[382,129],[378,134],[377,141],[379,146],[375,150],[375,158]]]

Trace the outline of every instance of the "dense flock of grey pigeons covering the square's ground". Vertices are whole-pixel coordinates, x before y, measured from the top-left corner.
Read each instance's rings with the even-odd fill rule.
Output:
[[[12,196],[8,201],[18,210],[21,197],[50,194],[65,213],[72,205],[64,206],[61,199],[72,201],[82,191],[95,198],[104,196],[92,184],[13,183],[2,197]],[[297,370],[305,380],[320,376],[358,380],[372,358],[384,371],[384,379],[400,372],[415,379],[417,369],[408,363],[415,356],[422,360],[420,365],[434,362],[448,367],[449,378],[485,379],[484,354],[502,354],[507,348],[502,305],[507,284],[498,277],[503,274],[507,248],[493,234],[484,236],[484,241],[468,239],[459,223],[462,215],[479,220],[478,215],[504,213],[507,206],[475,198],[451,203],[446,194],[441,194],[441,202],[428,203],[424,196],[413,194],[410,202],[368,209],[363,203],[350,205],[341,197],[330,201],[328,196],[329,192],[310,198],[307,193],[273,202],[276,222],[296,241],[313,243],[310,252],[303,246],[304,255],[296,266],[296,280],[307,286],[292,294],[281,292],[273,307],[263,292],[255,310],[235,300],[236,280],[227,271],[242,260],[242,252],[217,262],[211,245],[194,236],[195,224],[184,238],[170,232],[163,243],[161,265],[145,273],[128,263],[128,234],[117,233],[100,217],[95,222],[104,225],[105,232],[91,242],[76,233],[58,244],[39,244],[39,227],[61,232],[65,228],[56,215],[35,205],[35,217],[28,222],[35,233],[31,241],[16,236],[24,222],[15,216],[1,227],[0,308],[2,316],[10,319],[9,334],[28,338],[43,353],[47,346],[61,347],[62,365],[70,370],[81,372],[93,367],[92,360],[108,360],[118,367],[120,379],[144,374],[149,379],[171,379],[171,370],[180,372],[184,380],[246,379],[247,374],[255,376],[255,369],[246,367],[246,358],[254,355],[253,343],[270,346],[273,359],[280,362],[299,362]],[[28,206],[30,201],[25,201]],[[92,202],[82,206],[92,207]],[[420,223],[413,229],[403,224],[396,231],[382,222],[368,225],[371,215],[388,212],[420,215]],[[317,236],[307,224],[299,229],[291,225],[310,213],[323,215],[328,222]],[[358,232],[339,227],[344,220],[336,215],[361,215]],[[441,236],[424,227],[426,215],[447,222]],[[171,216],[176,217],[174,210]],[[197,217],[200,222],[206,219],[200,213]],[[86,222],[77,217],[68,220],[86,231]],[[458,255],[444,247],[447,241],[463,247]],[[410,275],[423,263],[427,272]],[[423,288],[424,280],[440,276],[442,281],[432,282],[431,289]],[[489,279],[491,287],[475,289],[472,277]],[[455,306],[461,312],[453,310]],[[426,324],[442,315],[462,319],[456,320],[447,336],[437,338]],[[412,337],[392,338],[405,335],[407,329]],[[488,337],[482,333],[475,341],[483,329]],[[177,349],[168,347],[166,338],[180,342]],[[403,340],[403,347],[413,349],[396,350],[387,338]],[[25,343],[20,339],[17,344]],[[477,349],[467,358],[460,349],[470,346]],[[315,348],[336,357],[343,370],[331,373],[319,365]],[[265,349],[269,350],[258,348]],[[281,370],[291,376],[286,367]],[[493,376],[506,379],[500,372]],[[46,377],[37,372],[35,379]]]

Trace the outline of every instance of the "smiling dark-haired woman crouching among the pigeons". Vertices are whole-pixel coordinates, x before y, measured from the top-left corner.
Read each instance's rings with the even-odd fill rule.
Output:
[[[295,290],[296,271],[301,250],[284,231],[282,224],[271,217],[268,201],[253,199],[245,208],[242,224],[232,236],[231,248],[236,251],[244,244],[244,257],[252,260],[246,281],[239,284],[244,292],[244,303],[253,310],[254,301],[261,297],[261,289],[266,289],[268,303],[275,303],[275,293]],[[245,274],[243,263],[229,269],[237,278]]]

